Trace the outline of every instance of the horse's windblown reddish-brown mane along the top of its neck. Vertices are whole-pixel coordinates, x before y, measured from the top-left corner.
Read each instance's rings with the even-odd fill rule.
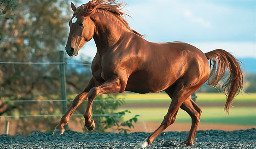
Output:
[[[126,25],[133,33],[143,37],[144,35],[141,35],[140,33],[130,28],[129,23],[124,19],[124,16],[129,16],[123,12],[125,3],[118,3],[118,1],[119,0],[92,0],[77,7],[74,14],[87,17],[93,15],[93,13],[97,12],[98,9],[106,10],[115,14],[117,18],[121,20],[124,25]]]

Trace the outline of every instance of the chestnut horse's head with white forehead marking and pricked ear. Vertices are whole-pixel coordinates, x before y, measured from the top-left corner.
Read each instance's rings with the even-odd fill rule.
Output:
[[[83,45],[90,41],[95,30],[95,23],[90,15],[84,16],[77,13],[77,9],[88,9],[89,4],[84,7],[78,7],[71,3],[71,9],[74,14],[68,22],[70,31],[66,44],[66,51],[69,56],[76,56]]]

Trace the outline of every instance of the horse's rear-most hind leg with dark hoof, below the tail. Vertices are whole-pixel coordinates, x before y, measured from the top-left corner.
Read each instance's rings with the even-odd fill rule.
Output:
[[[187,100],[185,100],[184,103],[180,106],[180,108],[183,109],[184,111],[186,111],[192,119],[192,125],[191,125],[191,129],[190,129],[188,138],[186,141],[184,141],[182,143],[182,144],[191,146],[191,145],[193,145],[194,140],[195,140],[196,129],[197,129],[197,125],[199,123],[199,119],[200,119],[202,110],[191,99],[191,97],[189,97]]]

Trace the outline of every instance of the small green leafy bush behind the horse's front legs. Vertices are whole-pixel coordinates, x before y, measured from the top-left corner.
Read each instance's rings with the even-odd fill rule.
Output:
[[[97,101],[98,99],[102,99],[102,101]],[[92,106],[92,116],[94,114],[97,114],[97,116],[93,116],[96,125],[93,132],[105,132],[107,129],[111,128],[120,133],[127,133],[130,131],[130,128],[134,128],[133,123],[138,121],[137,117],[139,115],[135,115],[131,119],[124,121],[124,115],[131,112],[129,110],[115,112],[118,106],[125,104],[123,99],[114,99],[111,96],[108,96],[107,98],[98,96],[94,100],[96,101]],[[103,116],[98,116],[98,114],[103,114]],[[91,132],[84,126],[84,119],[81,118],[80,122],[85,133]]]

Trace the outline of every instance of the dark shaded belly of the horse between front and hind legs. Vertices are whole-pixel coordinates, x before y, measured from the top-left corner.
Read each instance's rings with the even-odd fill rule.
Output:
[[[176,80],[168,75],[151,75],[143,71],[130,75],[125,90],[136,93],[156,93],[167,89]]]

